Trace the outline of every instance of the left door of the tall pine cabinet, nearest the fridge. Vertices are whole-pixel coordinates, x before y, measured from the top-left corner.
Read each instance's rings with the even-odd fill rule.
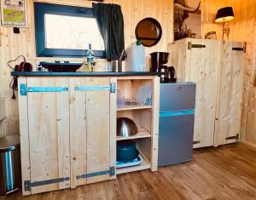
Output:
[[[194,147],[213,146],[220,42],[201,39],[187,41],[192,46],[186,50],[184,79],[196,83]]]

